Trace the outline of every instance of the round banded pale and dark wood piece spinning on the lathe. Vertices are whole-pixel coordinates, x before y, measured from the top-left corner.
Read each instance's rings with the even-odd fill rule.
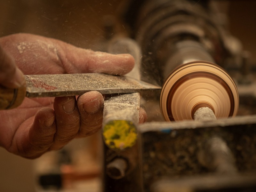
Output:
[[[197,109],[211,108],[217,118],[235,116],[236,84],[220,66],[205,61],[180,65],[165,81],[160,107],[166,121],[193,119]]]

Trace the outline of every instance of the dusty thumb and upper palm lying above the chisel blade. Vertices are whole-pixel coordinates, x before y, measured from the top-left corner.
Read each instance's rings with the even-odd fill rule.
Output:
[[[130,54],[83,49],[63,41],[32,34],[0,38],[24,74],[108,73],[124,75],[134,66]],[[35,59],[36,58],[36,59]]]

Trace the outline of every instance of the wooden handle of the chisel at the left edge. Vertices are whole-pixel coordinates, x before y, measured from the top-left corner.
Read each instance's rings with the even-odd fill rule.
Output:
[[[0,85],[0,109],[12,109],[18,107],[26,95],[26,86],[18,89],[10,89]]]

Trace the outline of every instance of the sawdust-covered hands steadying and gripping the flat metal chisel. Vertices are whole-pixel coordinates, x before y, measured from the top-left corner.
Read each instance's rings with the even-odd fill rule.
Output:
[[[2,37],[0,45],[0,84],[10,88],[24,84],[22,72],[124,75],[134,65],[129,54],[94,52],[31,34]],[[26,158],[60,149],[70,140],[101,128],[103,103],[102,95],[95,91],[78,98],[25,98],[20,107],[0,111],[0,145]],[[145,120],[146,113],[140,109],[140,123]]]

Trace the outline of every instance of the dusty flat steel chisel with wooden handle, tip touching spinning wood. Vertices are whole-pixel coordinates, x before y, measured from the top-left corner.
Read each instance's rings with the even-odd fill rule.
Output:
[[[101,94],[160,90],[161,87],[130,77],[100,73],[25,75],[26,87],[0,87],[0,109],[18,107],[26,97],[61,97],[82,95],[89,91]]]

